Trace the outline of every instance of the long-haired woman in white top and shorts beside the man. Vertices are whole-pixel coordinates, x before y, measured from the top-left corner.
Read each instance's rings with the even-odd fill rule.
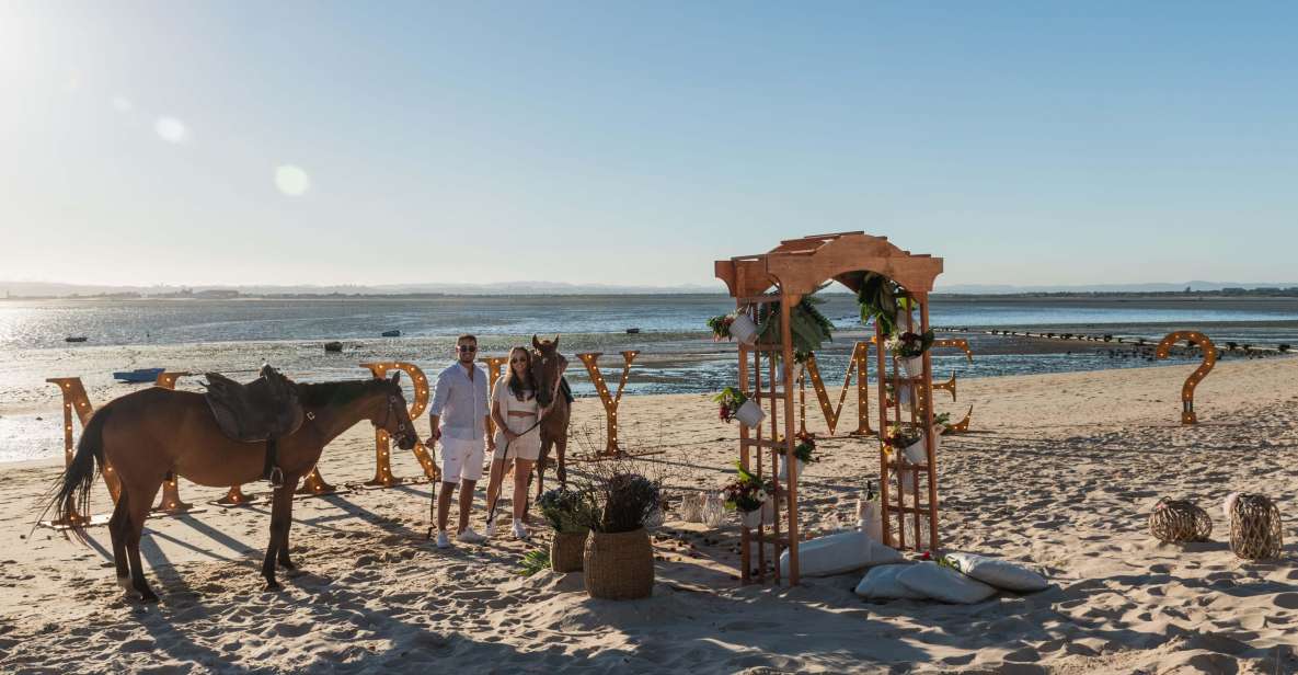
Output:
[[[491,509],[487,536],[496,532],[495,506],[501,492],[506,462],[514,462],[514,537],[527,539],[523,513],[527,509],[527,479],[541,454],[541,408],[536,402],[532,378],[532,353],[524,347],[509,350],[509,370],[496,384],[491,418],[496,422],[496,453],[487,483],[487,508]]]

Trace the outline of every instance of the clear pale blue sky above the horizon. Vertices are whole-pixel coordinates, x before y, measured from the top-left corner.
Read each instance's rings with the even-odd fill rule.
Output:
[[[0,1],[0,280],[1295,282],[1293,3]]]

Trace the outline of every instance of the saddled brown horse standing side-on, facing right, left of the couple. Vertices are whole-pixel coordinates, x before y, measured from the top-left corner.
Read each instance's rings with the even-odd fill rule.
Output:
[[[295,386],[306,421],[278,441],[284,480],[275,488],[270,543],[261,566],[267,591],[279,588],[276,561],[287,570],[295,569],[288,557],[293,491],[319,461],[326,444],[362,419],[391,434],[401,449],[408,450],[418,441],[400,378],[397,373],[392,379]],[[200,393],[161,387],[141,389],[113,400],[91,417],[73,463],[55,483],[55,496],[45,510],[52,508],[60,518],[74,522],[73,534],[84,543],[86,531],[73,515],[90,513],[95,478],[105,461],[112,465],[122,484],[108,522],[117,583],[134,588],[140,600],[154,602],[158,597],[149,589],[140,566],[140,531],[162,480],[174,472],[200,485],[252,483],[262,478],[265,450],[262,443],[239,443],[222,435]]]

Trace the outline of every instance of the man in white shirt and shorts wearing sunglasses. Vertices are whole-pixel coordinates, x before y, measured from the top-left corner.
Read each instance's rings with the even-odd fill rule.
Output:
[[[450,545],[447,536],[447,511],[450,497],[459,483],[459,527],[456,539],[470,544],[487,537],[469,527],[469,513],[474,504],[474,485],[483,475],[483,441],[496,452],[495,439],[487,435],[491,417],[487,371],[474,363],[478,356],[478,338],[461,335],[456,339],[458,360],[437,375],[437,388],[432,396],[428,421],[431,437],[441,441],[441,493],[437,495],[437,548]]]

